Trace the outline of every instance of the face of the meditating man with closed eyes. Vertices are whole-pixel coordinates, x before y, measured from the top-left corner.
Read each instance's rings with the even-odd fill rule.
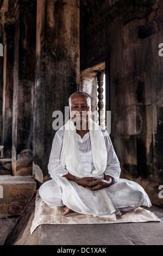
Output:
[[[91,100],[85,94],[75,93],[71,96],[70,115],[77,123],[85,123],[89,120],[93,106]]]

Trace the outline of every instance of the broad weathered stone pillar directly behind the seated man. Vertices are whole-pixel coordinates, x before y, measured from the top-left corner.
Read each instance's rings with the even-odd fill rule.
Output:
[[[56,132],[52,114],[64,113],[79,86],[79,1],[37,0],[36,31],[33,175],[43,182]]]

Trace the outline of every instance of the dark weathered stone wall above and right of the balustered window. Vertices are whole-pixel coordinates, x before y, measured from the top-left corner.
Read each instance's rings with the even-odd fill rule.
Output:
[[[111,9],[109,1],[80,4],[81,70],[110,56],[111,139],[121,177],[141,183],[153,203],[163,205],[158,197],[163,175],[163,57],[158,55],[163,6],[161,1],[120,2]]]

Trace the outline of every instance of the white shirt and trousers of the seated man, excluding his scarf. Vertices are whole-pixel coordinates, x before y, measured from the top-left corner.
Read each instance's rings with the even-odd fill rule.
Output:
[[[54,206],[66,205],[71,210],[79,213],[108,216],[112,219],[115,219],[116,215],[120,214],[121,209],[139,207],[141,205],[151,206],[148,195],[138,183],[119,178],[121,172],[120,163],[108,133],[101,127],[99,128],[104,135],[107,164],[104,174],[99,175],[99,177],[103,178],[104,175],[113,177],[111,186],[92,191],[62,177],[68,173],[60,162],[64,128],[65,126],[57,131],[52,144],[48,164],[48,171],[52,180],[42,184],[39,189],[40,197],[45,203]],[[91,177],[95,166],[92,159],[90,132],[85,134],[83,138],[79,134],[76,135],[83,177]],[[76,177],[80,178],[80,176]]]

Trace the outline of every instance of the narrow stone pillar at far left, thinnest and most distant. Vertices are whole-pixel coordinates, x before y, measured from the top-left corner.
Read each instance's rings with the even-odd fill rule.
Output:
[[[11,158],[12,150],[12,104],[14,84],[14,24],[4,24],[5,45],[3,62],[3,111],[2,111],[2,140],[3,157]]]

